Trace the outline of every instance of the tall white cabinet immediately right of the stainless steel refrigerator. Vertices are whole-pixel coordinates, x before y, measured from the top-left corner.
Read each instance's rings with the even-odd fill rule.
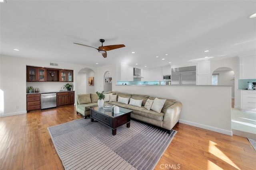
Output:
[[[210,84],[210,63],[209,61],[196,62],[196,85]]]

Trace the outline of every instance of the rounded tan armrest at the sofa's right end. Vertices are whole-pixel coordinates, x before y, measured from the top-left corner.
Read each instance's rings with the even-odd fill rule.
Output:
[[[180,119],[180,112],[182,103],[176,102],[172,106],[168,107],[164,114],[163,128],[171,130]]]

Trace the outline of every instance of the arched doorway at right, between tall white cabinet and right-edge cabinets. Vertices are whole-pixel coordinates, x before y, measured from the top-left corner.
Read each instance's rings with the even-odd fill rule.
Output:
[[[220,67],[212,72],[212,85],[230,85],[231,86],[231,95],[232,95],[232,107],[234,107],[234,80],[235,73],[234,70],[228,67]]]

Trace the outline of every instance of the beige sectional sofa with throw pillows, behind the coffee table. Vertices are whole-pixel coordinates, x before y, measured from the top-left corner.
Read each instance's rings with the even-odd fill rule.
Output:
[[[170,130],[178,123],[182,104],[174,99],[156,98],[148,95],[107,92],[104,104],[113,104],[133,110],[131,118]],[[96,106],[98,95],[78,94],[76,96],[76,112],[85,118],[90,116],[89,106]],[[128,101],[128,103],[127,103]],[[140,106],[141,105],[141,106]]]

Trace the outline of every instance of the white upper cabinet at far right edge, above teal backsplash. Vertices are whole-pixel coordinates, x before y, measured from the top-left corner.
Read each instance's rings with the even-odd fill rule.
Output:
[[[240,57],[240,79],[256,78],[256,56]]]

